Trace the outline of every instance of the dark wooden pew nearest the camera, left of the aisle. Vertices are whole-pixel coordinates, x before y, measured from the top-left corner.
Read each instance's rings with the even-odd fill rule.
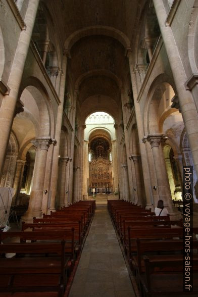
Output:
[[[57,291],[63,297],[69,261],[64,240],[0,244],[0,254],[5,253],[16,253],[16,257],[0,258],[0,292]],[[46,253],[48,257],[40,257]]]

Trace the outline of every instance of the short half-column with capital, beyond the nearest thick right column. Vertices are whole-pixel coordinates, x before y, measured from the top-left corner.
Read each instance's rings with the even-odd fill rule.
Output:
[[[140,156],[131,155],[130,160],[133,160],[135,168],[135,179],[136,179],[136,192],[137,192],[137,205],[143,205],[143,191],[141,182],[141,171],[140,171]]]

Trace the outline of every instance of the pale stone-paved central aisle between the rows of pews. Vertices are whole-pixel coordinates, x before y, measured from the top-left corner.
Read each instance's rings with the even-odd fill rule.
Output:
[[[69,297],[133,297],[128,270],[107,203],[96,203]]]

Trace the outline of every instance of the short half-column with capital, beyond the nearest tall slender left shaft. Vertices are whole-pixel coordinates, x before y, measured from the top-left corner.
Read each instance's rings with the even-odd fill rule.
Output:
[[[66,168],[67,168],[67,163],[69,161],[69,157],[60,157],[59,162],[59,178],[60,180],[60,197],[59,197],[59,207],[64,207],[65,206],[65,194],[66,194]]]

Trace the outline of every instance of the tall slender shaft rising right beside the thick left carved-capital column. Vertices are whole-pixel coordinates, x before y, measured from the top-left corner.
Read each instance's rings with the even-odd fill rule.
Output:
[[[51,206],[50,206],[51,211],[55,211],[55,199],[56,199],[56,192],[57,192],[59,150],[60,150],[61,126],[62,126],[62,117],[63,117],[63,103],[64,103],[64,94],[65,94],[65,80],[66,80],[66,72],[67,72],[67,53],[65,52],[63,55],[62,69],[63,69],[63,75],[61,77],[60,95],[59,95],[61,105],[59,105],[58,107],[56,135],[55,135],[57,140],[57,145],[54,147],[54,158],[53,158],[53,165],[52,165],[52,179],[51,179],[52,195],[51,195]]]

